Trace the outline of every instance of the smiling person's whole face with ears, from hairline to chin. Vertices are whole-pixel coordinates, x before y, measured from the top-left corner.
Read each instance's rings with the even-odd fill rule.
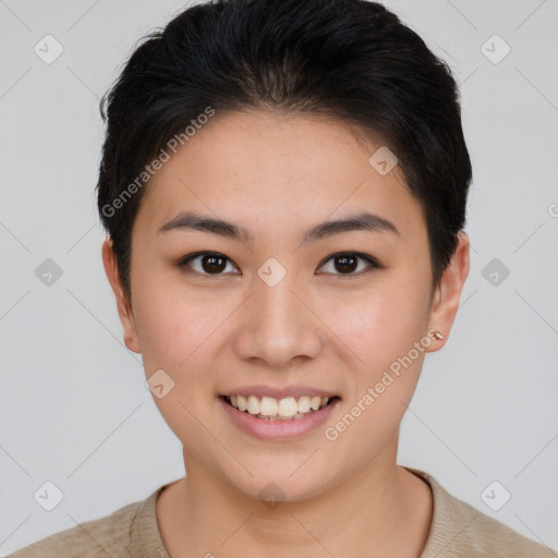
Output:
[[[163,397],[154,399],[186,469],[246,496],[274,482],[294,501],[395,463],[424,356],[441,345],[427,332],[447,337],[453,319],[466,238],[432,300],[422,208],[399,167],[385,174],[368,162],[381,143],[361,132],[302,116],[217,114],[148,185],[129,310],[104,247],[126,345],[157,378]],[[193,225],[186,213],[232,227]],[[303,416],[258,418],[225,398],[239,395],[259,396],[248,411]],[[306,396],[329,404],[308,410]]]

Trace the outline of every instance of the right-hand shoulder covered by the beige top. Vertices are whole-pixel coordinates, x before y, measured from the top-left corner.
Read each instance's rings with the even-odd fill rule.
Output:
[[[434,496],[430,533],[421,558],[558,558],[556,550],[456,498],[432,475],[405,469],[425,480]]]

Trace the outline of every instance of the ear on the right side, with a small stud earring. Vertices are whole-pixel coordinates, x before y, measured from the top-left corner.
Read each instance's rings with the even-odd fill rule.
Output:
[[[444,339],[432,339],[426,352],[438,351],[446,344],[459,308],[461,291],[469,275],[469,236],[464,231],[459,231],[458,236],[459,243],[456,252],[444,271],[440,286],[436,289],[428,323],[428,331],[439,331]]]

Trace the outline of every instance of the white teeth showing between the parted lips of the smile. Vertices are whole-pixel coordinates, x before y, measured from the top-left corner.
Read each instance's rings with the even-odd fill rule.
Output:
[[[238,411],[265,421],[296,421],[332,404],[340,399],[335,397],[302,396],[275,399],[257,396],[219,396]]]

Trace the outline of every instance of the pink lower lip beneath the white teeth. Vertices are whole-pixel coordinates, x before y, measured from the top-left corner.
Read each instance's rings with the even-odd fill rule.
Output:
[[[340,403],[340,399],[336,399],[330,404],[303,416],[302,418],[293,418],[290,421],[269,421],[267,418],[258,418],[244,411],[239,411],[230,405],[221,397],[217,398],[219,404],[227,413],[232,422],[244,432],[256,436],[257,438],[267,440],[290,439],[303,436],[323,424]]]

